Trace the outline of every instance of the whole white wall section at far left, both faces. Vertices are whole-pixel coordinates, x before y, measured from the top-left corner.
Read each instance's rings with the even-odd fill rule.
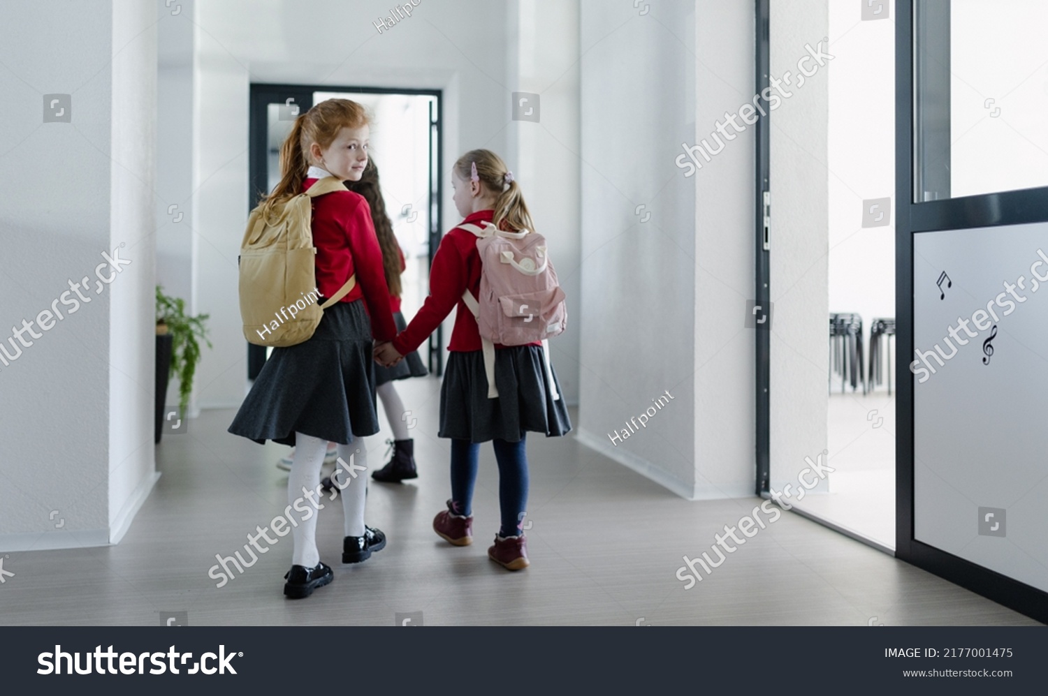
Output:
[[[0,365],[2,551],[116,540],[153,478],[150,24],[104,0],[0,5],[0,327],[90,283],[88,304],[58,305],[63,318]],[[49,93],[71,95],[71,122],[42,124]],[[102,252],[121,243],[132,263],[103,285]]]

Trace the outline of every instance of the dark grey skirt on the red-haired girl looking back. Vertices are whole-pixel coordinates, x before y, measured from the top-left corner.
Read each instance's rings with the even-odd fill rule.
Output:
[[[312,338],[272,350],[230,432],[294,446],[294,433],[348,445],[378,432],[371,320],[364,300],[324,310]]]

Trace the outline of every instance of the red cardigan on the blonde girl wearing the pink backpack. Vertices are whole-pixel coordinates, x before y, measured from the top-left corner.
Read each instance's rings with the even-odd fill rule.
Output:
[[[492,222],[494,218],[495,210],[478,210],[459,224],[480,224]],[[480,271],[477,235],[458,227],[444,234],[433,257],[433,268],[430,269],[430,296],[408,328],[393,340],[393,347],[397,353],[408,355],[417,350],[455,307],[458,307],[458,312],[447,350],[461,353],[481,350],[477,319],[462,300],[462,293],[466,288],[470,288],[474,297],[480,295]],[[530,345],[542,345],[542,342]],[[504,346],[496,343],[495,347]]]

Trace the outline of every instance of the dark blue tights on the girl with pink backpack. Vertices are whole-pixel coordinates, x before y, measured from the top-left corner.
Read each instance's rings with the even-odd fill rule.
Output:
[[[521,533],[521,513],[527,504],[527,453],[524,436],[519,443],[493,440],[495,458],[499,463],[499,508],[502,511],[504,537]],[[459,515],[472,515],[473,487],[477,482],[480,445],[467,440],[452,441],[452,501]]]

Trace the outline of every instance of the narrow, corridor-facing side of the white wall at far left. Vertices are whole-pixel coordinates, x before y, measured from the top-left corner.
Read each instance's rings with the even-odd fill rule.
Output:
[[[114,0],[110,248],[135,261],[113,282],[109,324],[109,526],[127,532],[159,478],[156,389],[156,5]]]

